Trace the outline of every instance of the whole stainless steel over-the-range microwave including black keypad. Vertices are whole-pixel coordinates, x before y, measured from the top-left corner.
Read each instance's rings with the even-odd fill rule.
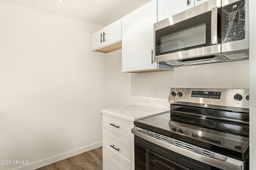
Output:
[[[249,59],[248,0],[209,0],[154,23],[154,61],[189,66]]]

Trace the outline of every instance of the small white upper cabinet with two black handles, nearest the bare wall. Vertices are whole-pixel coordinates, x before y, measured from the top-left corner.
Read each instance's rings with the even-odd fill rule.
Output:
[[[121,19],[92,34],[92,51],[108,53],[121,49]]]

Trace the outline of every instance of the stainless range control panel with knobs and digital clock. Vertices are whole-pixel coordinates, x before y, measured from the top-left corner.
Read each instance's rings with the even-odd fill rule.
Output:
[[[249,108],[248,89],[171,88],[170,104]],[[198,106],[198,105],[196,105]]]

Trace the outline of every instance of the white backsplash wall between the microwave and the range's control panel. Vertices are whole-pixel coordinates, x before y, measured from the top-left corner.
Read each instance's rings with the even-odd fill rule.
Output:
[[[249,88],[249,60],[174,68],[173,71],[132,74],[132,95],[168,99],[171,87]]]

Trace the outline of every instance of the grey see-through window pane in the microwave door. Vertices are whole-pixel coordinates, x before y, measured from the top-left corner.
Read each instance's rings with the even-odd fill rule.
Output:
[[[206,43],[206,23],[201,23],[160,38],[160,53]]]

